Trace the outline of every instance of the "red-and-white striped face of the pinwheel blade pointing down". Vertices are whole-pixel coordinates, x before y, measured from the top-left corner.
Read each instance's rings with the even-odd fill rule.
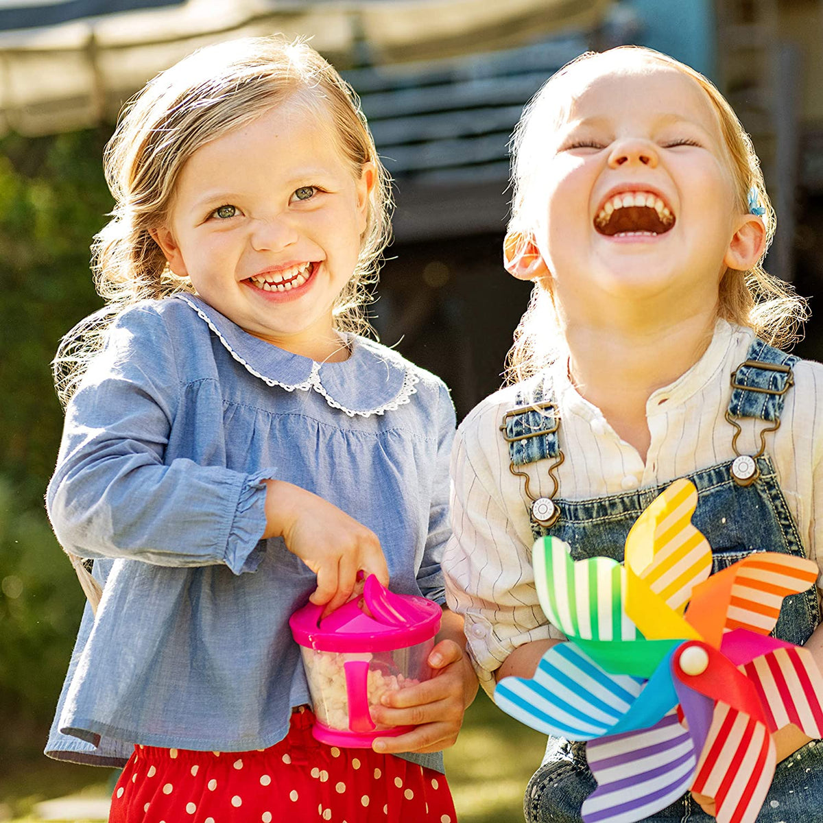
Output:
[[[691,790],[714,797],[718,823],[755,823],[775,760],[765,723],[718,701]]]

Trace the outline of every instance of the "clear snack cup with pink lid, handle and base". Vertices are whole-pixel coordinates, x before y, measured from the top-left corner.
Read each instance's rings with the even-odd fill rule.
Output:
[[[379,726],[370,708],[387,691],[431,677],[428,658],[440,630],[437,603],[394,594],[370,574],[362,597],[323,619],[309,603],[289,619],[300,644],[314,704],[314,737],[329,746],[370,748],[375,737],[393,737],[409,726]]]

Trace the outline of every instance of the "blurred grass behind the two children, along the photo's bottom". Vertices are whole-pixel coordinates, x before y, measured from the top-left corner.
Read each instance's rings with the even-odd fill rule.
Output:
[[[482,692],[467,711],[446,771],[459,823],[522,823],[523,791],[546,738],[509,718]],[[105,797],[113,771],[58,763],[31,749],[0,756],[0,821],[37,823],[35,804],[53,797]],[[72,821],[99,823],[99,821]]]

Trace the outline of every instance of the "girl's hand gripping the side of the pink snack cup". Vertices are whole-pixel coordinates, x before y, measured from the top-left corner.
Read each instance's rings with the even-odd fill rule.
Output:
[[[374,723],[416,726],[398,737],[378,737],[374,751],[440,751],[453,746],[463,725],[463,714],[477,694],[477,676],[463,649],[453,640],[441,640],[429,655],[435,676],[417,686],[389,691],[382,706],[372,706]]]

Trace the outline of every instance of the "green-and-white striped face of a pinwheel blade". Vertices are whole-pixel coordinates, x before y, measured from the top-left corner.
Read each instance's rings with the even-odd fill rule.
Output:
[[[635,639],[637,629],[623,607],[623,567],[607,557],[575,563],[569,551],[556,537],[541,537],[532,547],[537,597],[546,617],[569,639]]]

